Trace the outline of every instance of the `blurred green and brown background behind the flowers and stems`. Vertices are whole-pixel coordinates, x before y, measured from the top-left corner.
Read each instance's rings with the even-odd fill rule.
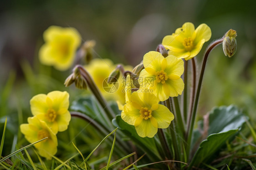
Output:
[[[6,115],[12,117],[8,130],[15,134],[18,125],[26,122],[21,115],[31,116],[29,100],[33,95],[69,90],[63,82],[70,70],[60,72],[38,60],[38,50],[44,43],[42,34],[50,25],[71,26],[83,41],[96,40],[95,57],[135,66],[165,35],[189,21],[195,27],[209,25],[210,41],[230,29],[237,31],[236,55],[225,57],[221,45],[210,54],[200,114],[215,105],[234,104],[245,110],[256,127],[255,8],[255,0],[0,1],[0,120],[3,122]],[[199,70],[210,41],[196,57]],[[71,95],[71,101],[73,98]]]

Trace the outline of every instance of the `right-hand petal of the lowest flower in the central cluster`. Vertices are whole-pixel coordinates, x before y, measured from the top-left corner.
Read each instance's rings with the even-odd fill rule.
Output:
[[[152,112],[152,117],[157,120],[158,128],[168,128],[171,121],[174,120],[174,115],[164,105],[159,105],[157,110]]]

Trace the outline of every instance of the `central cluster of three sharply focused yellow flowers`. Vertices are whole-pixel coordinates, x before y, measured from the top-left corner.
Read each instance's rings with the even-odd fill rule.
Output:
[[[196,29],[192,23],[184,23],[172,35],[164,37],[162,45],[168,51],[164,57],[157,51],[150,51],[143,57],[144,69],[140,72],[142,78],[137,92],[126,93],[126,104],[123,106],[122,119],[129,125],[134,125],[139,136],[154,137],[158,128],[169,127],[174,115],[159,101],[181,95],[184,82],[181,75],[184,72],[185,60],[195,57],[203,44],[210,40],[211,30],[206,24]],[[146,79],[152,79],[147,83]],[[126,78],[130,84],[130,76]],[[131,88],[128,85],[126,88]],[[149,89],[147,92],[143,88]],[[150,91],[152,90],[152,91]],[[128,91],[128,90],[127,90]]]

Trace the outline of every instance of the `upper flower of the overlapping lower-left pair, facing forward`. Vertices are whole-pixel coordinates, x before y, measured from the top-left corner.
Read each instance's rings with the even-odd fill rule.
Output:
[[[31,112],[39,120],[45,121],[54,134],[58,131],[67,130],[71,119],[69,113],[69,94],[67,91],[52,91],[45,94],[35,95],[30,100]]]

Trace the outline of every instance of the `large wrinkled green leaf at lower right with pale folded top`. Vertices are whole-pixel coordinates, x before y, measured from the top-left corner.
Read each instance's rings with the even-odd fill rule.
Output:
[[[225,141],[236,135],[245,121],[246,117],[233,105],[213,109],[209,115],[209,136],[201,142],[189,168],[210,160],[211,156],[225,144]]]

